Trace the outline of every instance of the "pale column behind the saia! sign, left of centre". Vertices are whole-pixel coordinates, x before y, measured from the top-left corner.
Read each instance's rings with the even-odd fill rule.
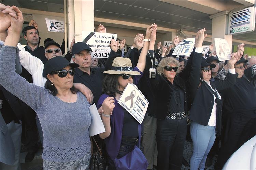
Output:
[[[83,41],[82,31],[94,32],[94,1],[67,0],[67,3],[69,43],[74,35],[76,42]]]

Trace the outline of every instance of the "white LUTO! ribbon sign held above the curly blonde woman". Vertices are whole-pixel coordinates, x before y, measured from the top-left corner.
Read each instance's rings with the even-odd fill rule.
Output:
[[[187,38],[181,41],[174,49],[173,55],[190,56],[195,45],[196,38]]]

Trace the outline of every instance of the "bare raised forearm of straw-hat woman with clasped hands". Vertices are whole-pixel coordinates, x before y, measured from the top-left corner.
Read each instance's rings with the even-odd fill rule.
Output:
[[[147,53],[148,53],[148,49],[149,48],[152,49],[152,47],[153,47],[153,50],[154,50],[154,45],[155,45],[155,41],[156,41],[156,30],[157,30],[157,25],[156,24],[152,24],[151,26],[149,26],[147,28],[145,39],[152,38],[152,40],[150,39],[151,44],[150,44],[150,42],[145,41],[144,45],[142,47],[140,57],[139,57],[139,60],[138,60],[138,63],[137,63],[137,67],[141,72],[144,71],[145,66],[146,66],[146,56],[147,56]],[[154,57],[154,56],[152,56],[152,57]]]

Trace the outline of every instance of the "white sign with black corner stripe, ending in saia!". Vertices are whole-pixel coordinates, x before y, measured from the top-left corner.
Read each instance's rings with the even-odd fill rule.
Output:
[[[116,40],[117,34],[82,31],[83,42],[93,50],[91,58],[108,58],[110,53],[109,42]]]

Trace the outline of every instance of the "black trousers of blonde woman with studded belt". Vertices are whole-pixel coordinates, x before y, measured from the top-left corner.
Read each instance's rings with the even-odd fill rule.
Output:
[[[157,120],[157,169],[181,169],[186,135],[186,118]]]

